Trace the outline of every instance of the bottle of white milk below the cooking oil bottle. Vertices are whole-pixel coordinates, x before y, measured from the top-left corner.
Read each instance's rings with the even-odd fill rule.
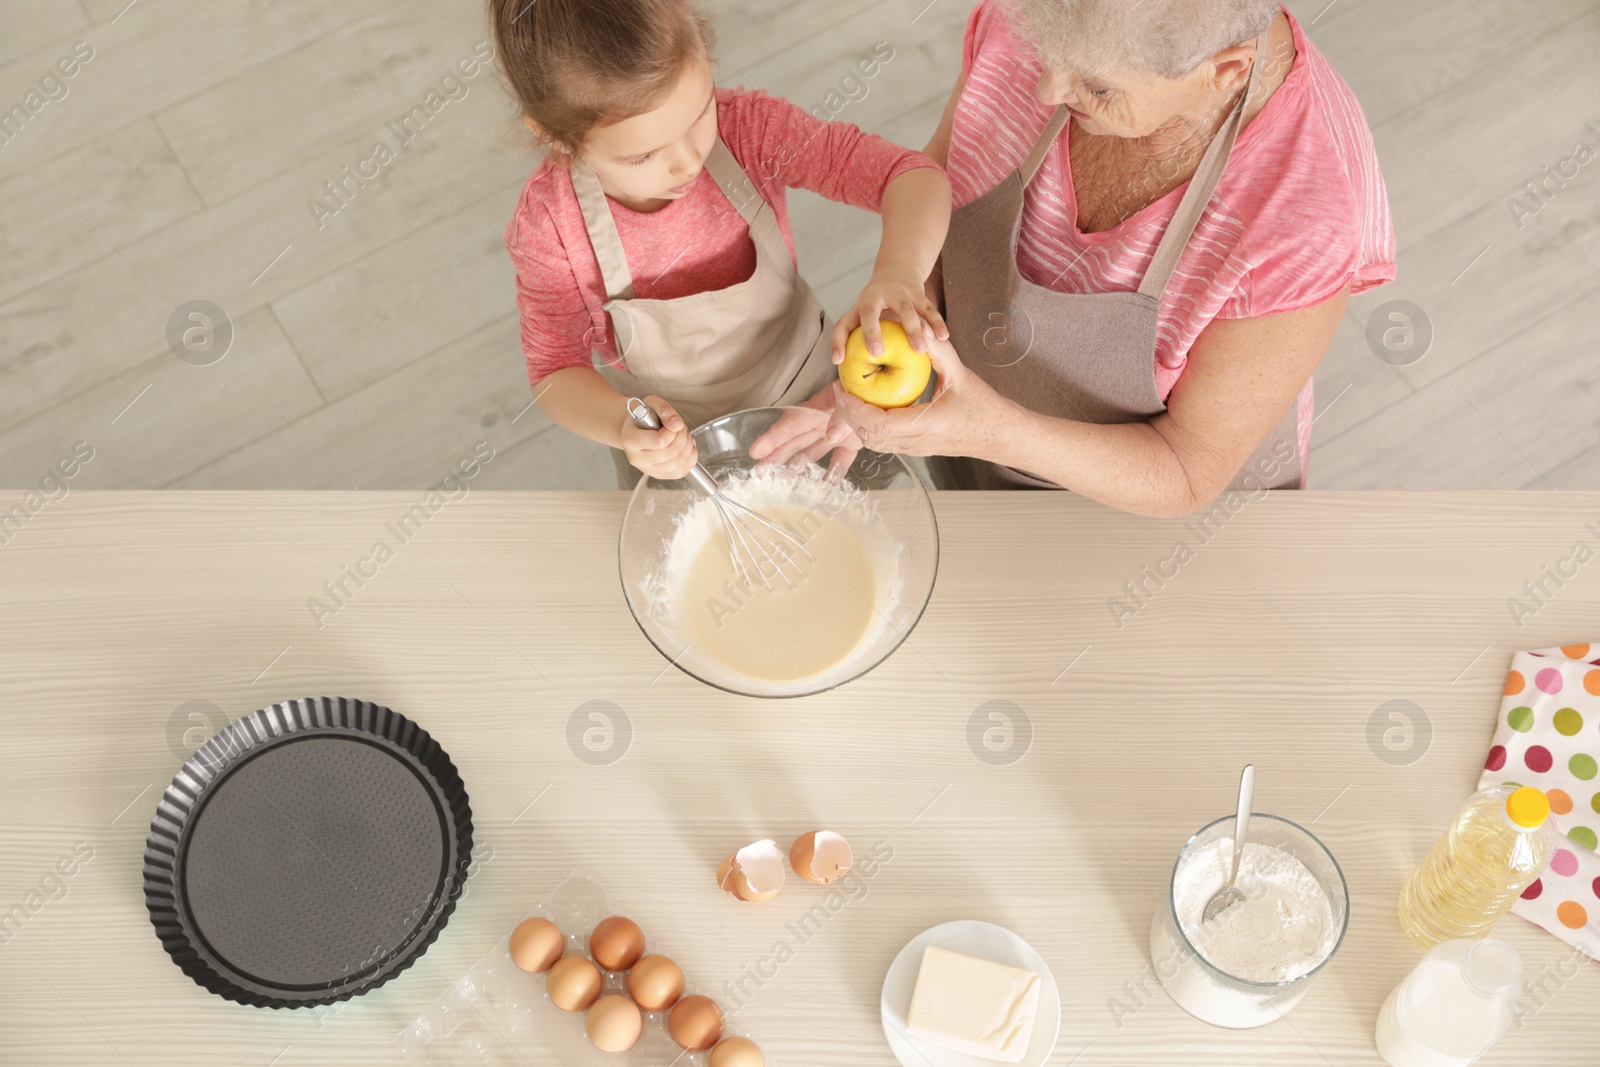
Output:
[[[1435,945],[1378,1013],[1378,1054],[1390,1067],[1467,1067],[1506,1033],[1520,981],[1504,941]]]

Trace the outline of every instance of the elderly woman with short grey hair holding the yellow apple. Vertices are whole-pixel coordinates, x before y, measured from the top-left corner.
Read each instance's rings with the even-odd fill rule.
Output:
[[[837,392],[813,434],[1147,515],[1302,485],[1312,370],[1394,230],[1366,120],[1278,0],[982,0],[926,152],[957,205],[938,394]],[[794,429],[763,450],[816,454]]]

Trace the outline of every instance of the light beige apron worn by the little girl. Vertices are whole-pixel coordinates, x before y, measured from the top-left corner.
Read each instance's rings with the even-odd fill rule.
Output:
[[[595,352],[594,366],[624,397],[664,397],[691,429],[744,408],[810,400],[838,376],[827,314],[795,270],[778,216],[720,138],[706,170],[750,229],[755,270],[725,290],[651,301],[634,298],[600,179],[587,163],[573,163],[573,189],[605,278],[619,355],[611,362]],[[638,470],[619,450],[611,451],[619,485],[630,488]]]

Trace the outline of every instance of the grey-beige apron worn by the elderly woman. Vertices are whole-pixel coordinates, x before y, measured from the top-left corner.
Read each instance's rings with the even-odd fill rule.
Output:
[[[1022,190],[1067,122],[1051,115],[1027,160],[950,216],[944,243],[946,322],[966,366],[1000,395],[1040,414],[1078,422],[1142,422],[1166,405],[1155,392],[1155,330],[1162,294],[1216,189],[1261,80],[1266,35],[1256,42],[1250,88],[1189,179],[1136,293],[1056,293],[1016,269]],[[941,488],[1061,488],[1026,470],[970,458],[930,461]],[[1296,410],[1267,434],[1232,486],[1299,488]]]

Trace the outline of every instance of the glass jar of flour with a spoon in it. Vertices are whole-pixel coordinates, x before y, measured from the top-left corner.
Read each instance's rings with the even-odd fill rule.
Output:
[[[1344,941],[1350,896],[1333,853],[1277,816],[1251,814],[1238,888],[1245,901],[1200,915],[1227,883],[1234,816],[1189,838],[1150,921],[1150,963],[1197,1019],[1243,1030],[1283,1017]]]

